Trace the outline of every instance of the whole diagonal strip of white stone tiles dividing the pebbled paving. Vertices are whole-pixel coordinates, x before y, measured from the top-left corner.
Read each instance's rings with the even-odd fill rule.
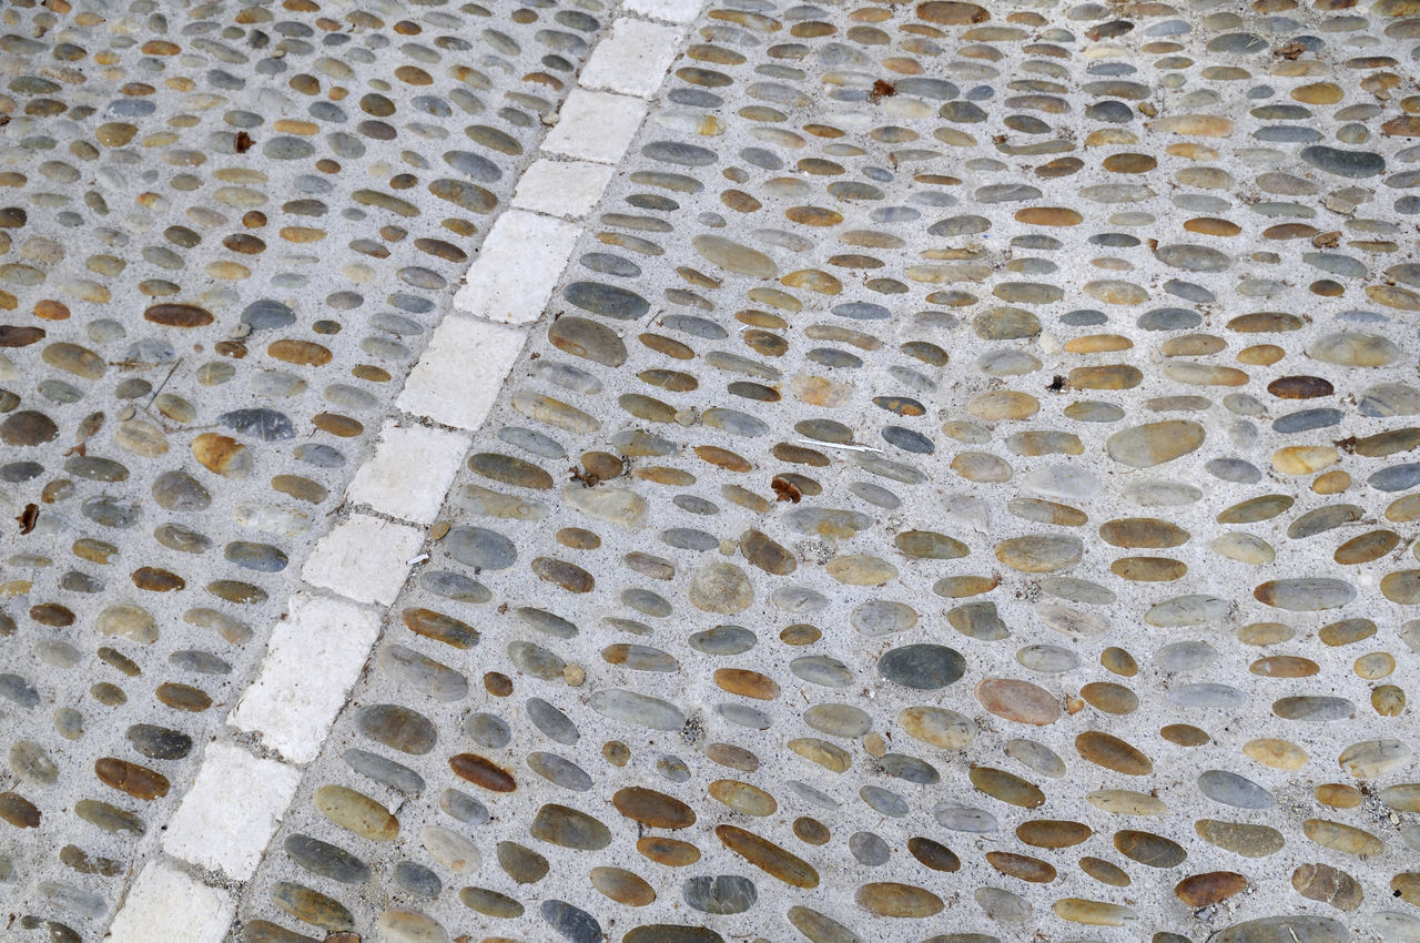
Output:
[[[108,943],[222,943],[239,885],[257,871],[320,756],[471,447],[523,352],[585,226],[674,61],[701,0],[626,0],[592,50],[547,133],[541,156],[494,222],[454,312],[435,329],[395,400],[379,442],[345,491],[354,511],[301,568],[307,588],[287,604],[256,680],[227,723],[236,741],[207,746],[162,851],[129,886]],[[320,665],[321,670],[311,669]],[[214,888],[190,872],[216,872]]]

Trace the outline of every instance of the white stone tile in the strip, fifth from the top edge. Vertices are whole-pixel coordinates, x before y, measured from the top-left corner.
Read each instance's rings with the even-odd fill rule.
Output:
[[[483,241],[453,307],[501,324],[537,321],[581,231],[550,216],[506,212]]]

